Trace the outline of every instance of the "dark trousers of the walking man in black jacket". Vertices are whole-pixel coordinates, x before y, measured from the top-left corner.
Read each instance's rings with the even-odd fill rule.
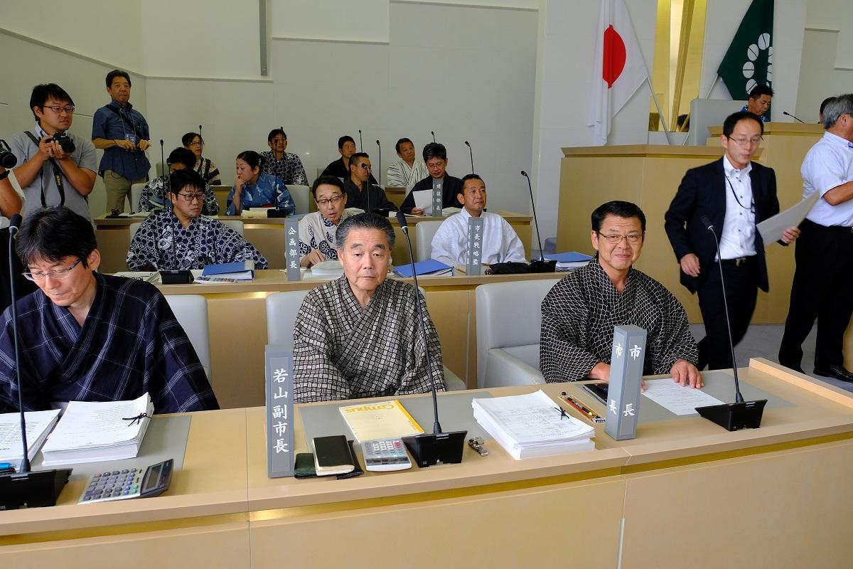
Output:
[[[699,310],[705,321],[705,338],[696,347],[699,350],[699,369],[730,369],[732,352],[728,345],[726,311],[722,301],[720,269],[717,263],[704,268],[708,271],[705,281],[699,286]],[[732,260],[722,261],[722,274],[726,280],[728,316],[732,324],[732,342],[738,345],[749,328],[758,294],[758,263],[755,257],[746,258],[736,264]]]

